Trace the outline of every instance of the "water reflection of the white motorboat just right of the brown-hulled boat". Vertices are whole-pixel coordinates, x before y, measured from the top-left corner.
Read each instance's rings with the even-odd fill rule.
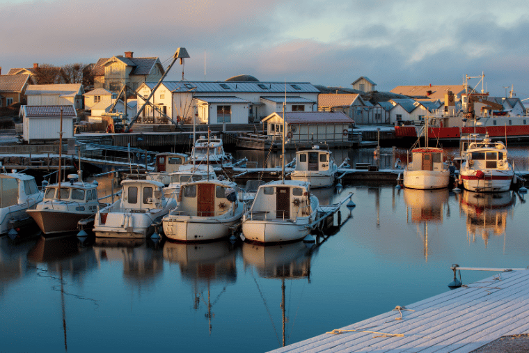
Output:
[[[95,238],[95,258],[102,262],[123,262],[123,277],[132,285],[144,288],[161,276],[164,259],[157,244],[145,238]]]

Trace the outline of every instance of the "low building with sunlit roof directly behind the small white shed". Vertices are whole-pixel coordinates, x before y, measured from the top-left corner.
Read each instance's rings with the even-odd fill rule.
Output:
[[[31,84],[26,89],[27,105],[70,105],[83,109],[82,84]]]

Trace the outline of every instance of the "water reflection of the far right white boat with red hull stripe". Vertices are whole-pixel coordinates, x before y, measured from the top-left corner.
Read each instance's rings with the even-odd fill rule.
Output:
[[[505,237],[507,217],[512,217],[515,201],[512,191],[489,194],[464,190],[459,196],[459,207],[466,214],[468,242],[475,242],[477,235],[487,246],[491,233]]]

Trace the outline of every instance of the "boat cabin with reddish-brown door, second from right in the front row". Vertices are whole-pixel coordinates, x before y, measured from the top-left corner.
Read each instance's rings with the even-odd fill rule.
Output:
[[[191,182],[180,188],[180,203],[173,214],[216,217],[237,207],[234,182],[214,180]],[[234,203],[234,207],[231,207]]]

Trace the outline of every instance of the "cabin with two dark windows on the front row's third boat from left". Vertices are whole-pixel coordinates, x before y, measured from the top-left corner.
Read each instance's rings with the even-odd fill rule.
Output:
[[[160,208],[164,199],[162,188],[164,184],[155,180],[123,180],[121,182],[121,208],[131,209],[131,212],[145,212],[153,208]]]

